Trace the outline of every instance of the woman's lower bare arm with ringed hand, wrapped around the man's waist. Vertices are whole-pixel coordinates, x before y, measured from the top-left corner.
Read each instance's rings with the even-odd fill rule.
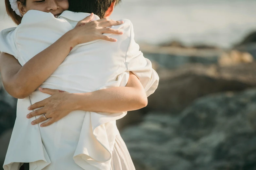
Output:
[[[42,108],[29,113],[27,118],[45,113],[45,117],[51,119],[41,126],[49,126],[74,110],[117,113],[137,110],[147,105],[145,90],[139,79],[131,72],[126,87],[112,87],[89,93],[69,93],[47,88],[40,91],[51,96],[31,105],[29,110]],[[45,121],[43,116],[31,124],[42,121]]]

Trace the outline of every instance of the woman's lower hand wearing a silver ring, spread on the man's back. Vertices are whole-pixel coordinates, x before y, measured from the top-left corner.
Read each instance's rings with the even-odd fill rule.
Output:
[[[72,101],[70,101],[69,94],[71,93],[47,88],[39,88],[39,90],[43,93],[47,93],[52,96],[29,106],[28,110],[32,110],[38,107],[42,108],[29,113],[27,115],[28,119],[45,113],[44,116],[49,120],[40,125],[41,127],[44,127],[49,126],[50,124],[60,120],[61,118],[67,116],[70,112],[73,111],[72,106],[74,106],[75,104],[73,104]],[[31,124],[35,125],[44,120],[45,118],[42,115],[38,119],[32,121]]]

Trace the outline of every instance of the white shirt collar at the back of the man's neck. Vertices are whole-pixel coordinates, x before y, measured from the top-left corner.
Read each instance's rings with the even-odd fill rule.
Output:
[[[72,12],[72,11],[63,11],[62,14],[60,14],[60,17],[72,20],[72,21],[81,21],[84,18],[91,15],[90,13],[83,13],[83,12]],[[99,20],[100,18],[94,14],[93,20]]]

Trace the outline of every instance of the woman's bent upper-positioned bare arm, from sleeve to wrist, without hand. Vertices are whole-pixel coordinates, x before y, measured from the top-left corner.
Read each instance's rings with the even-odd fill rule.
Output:
[[[15,98],[25,98],[34,92],[63,62],[72,36],[65,34],[47,49],[31,58],[23,67],[12,55],[0,55],[0,72],[6,91]]]

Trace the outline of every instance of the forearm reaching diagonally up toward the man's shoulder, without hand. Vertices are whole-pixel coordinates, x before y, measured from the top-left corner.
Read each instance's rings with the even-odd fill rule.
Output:
[[[17,98],[25,98],[34,92],[58,68],[76,44],[66,33],[47,49],[38,53],[11,77],[5,88],[15,91]]]

